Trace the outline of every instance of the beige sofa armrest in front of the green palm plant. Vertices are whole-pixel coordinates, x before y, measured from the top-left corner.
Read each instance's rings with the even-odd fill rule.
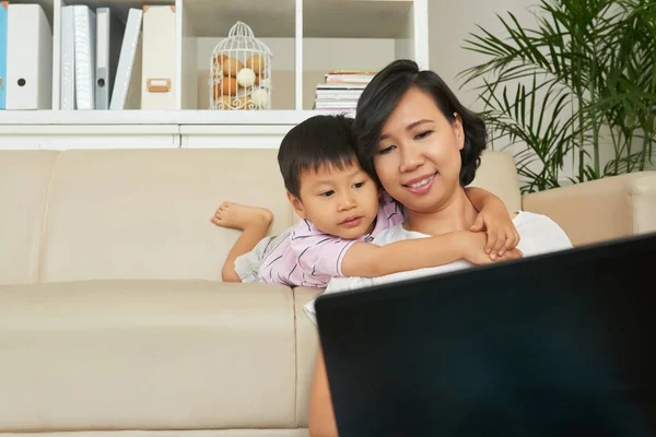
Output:
[[[574,246],[655,232],[656,172],[526,194],[523,209],[551,217]]]

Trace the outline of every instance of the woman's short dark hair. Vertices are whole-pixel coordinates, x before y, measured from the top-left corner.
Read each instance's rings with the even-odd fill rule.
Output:
[[[460,116],[465,131],[465,146],[460,151],[460,186],[468,186],[476,176],[481,153],[485,149],[485,123],[460,104],[440,75],[430,70],[420,71],[417,62],[406,59],[396,60],[380,70],[358,101],[353,133],[361,165],[368,174],[375,174],[374,155],[383,126],[412,87],[430,94],[448,120],[456,119],[454,114]]]

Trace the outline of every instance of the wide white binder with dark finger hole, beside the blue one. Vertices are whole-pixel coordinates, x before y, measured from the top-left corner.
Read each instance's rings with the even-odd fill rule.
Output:
[[[52,31],[38,4],[9,3],[7,109],[52,108]]]

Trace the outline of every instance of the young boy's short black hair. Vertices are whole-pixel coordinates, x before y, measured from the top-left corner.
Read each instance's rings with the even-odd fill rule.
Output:
[[[338,169],[358,161],[352,135],[353,119],[344,115],[318,115],[292,128],[280,143],[278,165],[284,187],[301,198],[301,174],[324,165]]]

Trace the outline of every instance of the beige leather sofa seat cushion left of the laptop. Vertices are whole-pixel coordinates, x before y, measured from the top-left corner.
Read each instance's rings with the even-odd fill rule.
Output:
[[[0,433],[295,428],[292,290],[0,286]]]

